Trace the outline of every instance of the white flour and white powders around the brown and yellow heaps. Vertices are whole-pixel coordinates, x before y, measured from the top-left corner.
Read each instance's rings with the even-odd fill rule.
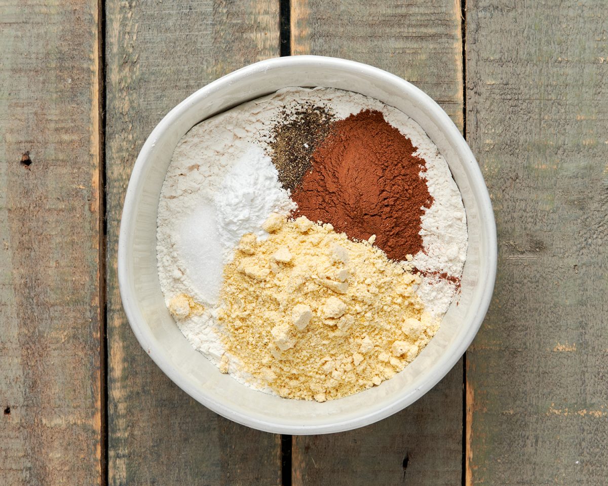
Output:
[[[286,104],[311,101],[345,118],[362,109],[381,111],[385,119],[418,148],[426,160],[432,207],[422,217],[426,253],[414,255],[423,272],[418,293],[430,313],[441,317],[457,285],[438,275],[459,278],[467,248],[466,216],[460,192],[443,156],[421,127],[401,111],[378,100],[336,89],[287,88],[193,127],[176,147],[161,191],[157,259],[167,304],[185,293],[206,307],[202,315],[178,322],[195,349],[216,365],[223,354],[215,312],[222,269],[244,233],[264,238],[261,224],[272,212],[294,208],[264,155],[273,118]],[[230,369],[239,381],[246,377]],[[247,384],[247,383],[246,383]]]

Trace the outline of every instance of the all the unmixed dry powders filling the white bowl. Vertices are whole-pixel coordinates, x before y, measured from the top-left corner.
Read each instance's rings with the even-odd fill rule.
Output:
[[[323,402],[379,385],[426,346],[466,236],[458,188],[413,120],[351,92],[285,89],[178,144],[159,279],[222,372]]]

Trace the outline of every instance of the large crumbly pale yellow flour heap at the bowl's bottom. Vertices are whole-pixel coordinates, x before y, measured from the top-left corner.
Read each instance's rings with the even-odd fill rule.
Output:
[[[330,224],[272,214],[224,268],[218,313],[227,355],[291,399],[323,402],[379,385],[437,332],[407,265]]]

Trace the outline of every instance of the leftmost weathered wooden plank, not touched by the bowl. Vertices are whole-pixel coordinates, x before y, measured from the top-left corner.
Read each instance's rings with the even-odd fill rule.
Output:
[[[0,12],[0,484],[100,484],[98,5]]]

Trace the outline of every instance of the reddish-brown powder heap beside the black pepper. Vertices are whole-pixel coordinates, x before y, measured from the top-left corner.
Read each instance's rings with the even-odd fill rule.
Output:
[[[331,223],[352,239],[376,235],[390,259],[423,250],[420,236],[429,194],[424,159],[379,111],[361,111],[331,124],[311,169],[292,191],[297,215]]]

